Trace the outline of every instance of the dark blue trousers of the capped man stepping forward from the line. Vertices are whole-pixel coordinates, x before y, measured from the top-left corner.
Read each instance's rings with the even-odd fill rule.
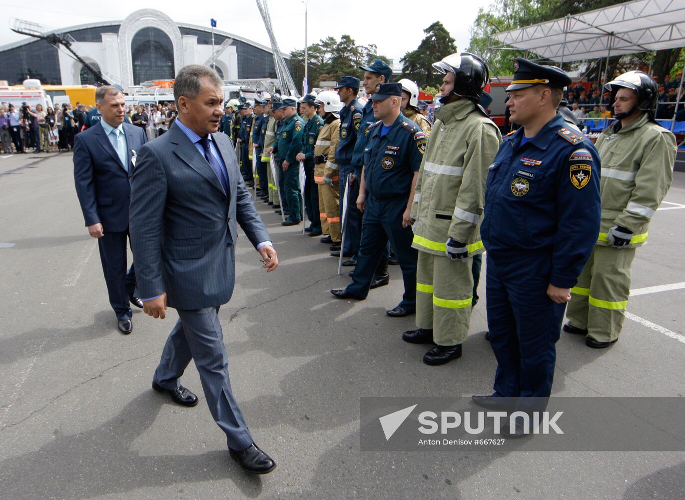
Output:
[[[412,248],[412,228],[402,227],[402,213],[407,206],[406,196],[376,200],[366,197],[366,209],[362,220],[362,242],[354,268],[352,283],[347,291],[360,298],[369,295],[371,281],[376,267],[386,253],[388,241],[395,248],[399,267],[402,270],[404,294],[399,307],[416,310],[416,259],[418,250]]]

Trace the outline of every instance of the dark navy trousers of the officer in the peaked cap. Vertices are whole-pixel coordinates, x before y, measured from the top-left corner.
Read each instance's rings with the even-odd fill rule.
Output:
[[[497,359],[494,395],[549,398],[566,309],[547,296],[551,253],[493,257],[488,252],[487,263],[488,330]]]

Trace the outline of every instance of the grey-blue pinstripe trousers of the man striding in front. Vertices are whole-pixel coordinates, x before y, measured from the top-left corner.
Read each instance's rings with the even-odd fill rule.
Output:
[[[228,355],[219,323],[219,307],[193,311],[178,309],[179,319],[166,339],[154,381],[173,390],[180,377],[195,360],[202,390],[214,421],[226,434],[228,447],[243,450],[253,443],[245,419],[231,388]]]

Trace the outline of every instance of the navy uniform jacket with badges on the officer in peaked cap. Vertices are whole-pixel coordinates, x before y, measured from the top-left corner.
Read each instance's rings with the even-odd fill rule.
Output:
[[[571,288],[599,234],[599,154],[562,115],[522,137],[506,136],[489,167],[481,237],[495,261],[551,254],[550,283]]]

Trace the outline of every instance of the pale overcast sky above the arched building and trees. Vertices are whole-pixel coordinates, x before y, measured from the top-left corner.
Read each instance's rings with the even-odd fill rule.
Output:
[[[439,19],[462,51],[469,45],[469,28],[478,8],[487,7],[490,0],[464,1],[460,6],[456,2],[430,3],[432,8],[416,0],[381,3],[308,0],[308,41],[311,45],[326,36],[340,38],[340,35],[349,34],[359,45],[375,43],[379,53],[399,62],[407,51],[418,47],[424,36],[423,29]],[[188,10],[188,5],[192,5],[192,10]],[[213,17],[217,29],[271,45],[256,2],[251,0],[168,0],[155,3],[132,0],[0,0],[0,10],[7,19],[5,25],[0,26],[0,45],[25,38],[10,30],[10,18],[25,19],[55,29],[119,21],[141,8],[162,10],[178,23],[207,27]],[[290,53],[292,49],[304,48],[304,10],[301,0],[269,2],[273,31],[281,51]]]

